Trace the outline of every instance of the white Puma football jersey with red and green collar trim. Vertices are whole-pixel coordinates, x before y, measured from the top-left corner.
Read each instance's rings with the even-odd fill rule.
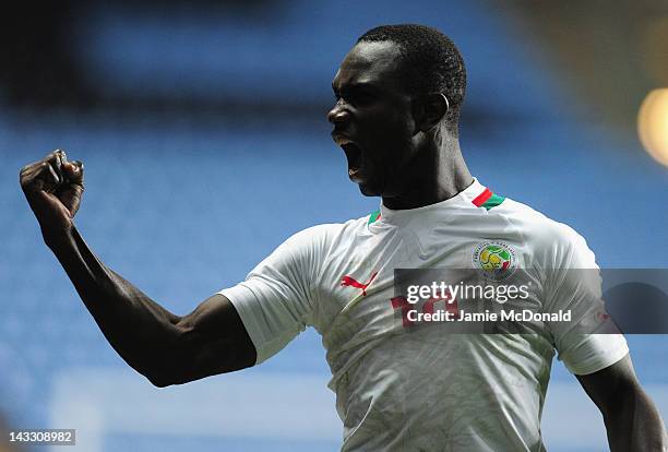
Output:
[[[541,451],[540,415],[554,350],[576,374],[628,354],[615,334],[439,334],[410,328],[394,269],[468,269],[486,247],[535,278],[532,299],[589,309],[599,287],[565,269],[596,269],[570,227],[493,194],[477,180],[454,198],[314,226],[281,245],[242,283],[222,290],[267,359],[307,325],[322,335],[344,451]],[[487,255],[489,259],[489,255]],[[568,297],[560,296],[568,294]],[[580,312],[580,316],[583,313]]]

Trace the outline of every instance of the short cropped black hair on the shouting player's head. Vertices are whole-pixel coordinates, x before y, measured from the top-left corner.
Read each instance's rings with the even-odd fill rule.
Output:
[[[458,135],[460,110],[466,92],[464,59],[452,39],[436,28],[416,24],[381,25],[357,43],[390,40],[399,46],[405,88],[410,94],[440,92],[448,97],[448,130]]]

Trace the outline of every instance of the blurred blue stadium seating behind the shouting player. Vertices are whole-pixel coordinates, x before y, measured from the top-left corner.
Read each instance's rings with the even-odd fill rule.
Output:
[[[470,76],[462,147],[484,183],[573,226],[601,265],[666,266],[665,169],[640,152],[628,152],[639,146],[632,138],[612,140],[600,124],[589,128],[564,109],[568,103],[556,102],[568,93],[535,60],[529,38],[489,3],[391,1],[378,11],[378,5],[359,2],[311,8],[306,1],[258,1],[259,11],[264,5],[282,14],[255,17],[250,11],[244,21],[225,10],[205,17],[211,3],[181,14],[183,3],[169,2],[157,20],[151,2],[142,8],[95,2],[91,15],[82,16],[91,22],[77,29],[95,28],[96,34],[73,48],[79,64],[93,68],[79,76],[91,88],[98,84],[97,107],[12,104],[0,85],[0,98],[8,97],[0,103],[0,224],[5,237],[0,254],[0,411],[12,426],[51,426],[62,406],[62,385],[75,386],[75,376],[86,372],[111,376],[109,385],[119,391],[132,388],[135,396],[121,399],[128,412],[156,399],[156,390],[129,371],[106,343],[43,246],[17,185],[19,168],[55,147],[82,159],[88,183],[77,225],[87,241],[109,266],[186,313],[243,278],[297,230],[377,209],[377,199],[360,197],[348,182],[324,114],[341,58],[357,35],[379,22],[436,25],[462,47]],[[82,17],[73,23],[85,22]],[[144,29],[147,21],[152,27]],[[172,29],[179,31],[175,46],[168,43]],[[248,58],[239,67],[225,67],[239,55]],[[224,87],[228,91],[219,91]],[[201,93],[194,95],[195,88]],[[641,380],[667,413],[668,342],[661,336],[629,341]],[[311,331],[243,374],[275,383],[286,376],[302,378],[309,388],[321,382],[314,397],[331,397],[324,352]],[[218,377],[193,391],[234,390],[225,381]],[[241,380],[234,376],[230,381]],[[576,444],[576,436],[561,433],[571,424],[560,402],[569,397],[577,404],[586,396],[560,364],[552,382],[559,395],[551,411],[548,393],[544,428],[547,445],[556,444],[550,450],[604,448],[597,417],[578,418],[583,431],[596,431],[587,441]],[[174,415],[195,416],[200,407],[174,406]],[[302,441],[267,440],[248,431],[172,435],[168,423],[162,432],[115,430],[105,427],[111,416],[105,408],[103,403],[98,450],[312,451],[336,450],[338,443],[331,430]],[[206,409],[215,416],[215,409]],[[230,416],[226,409],[220,407],[223,418]],[[330,409],[323,416],[335,413],[333,403]],[[308,416],[299,415],[294,423]]]

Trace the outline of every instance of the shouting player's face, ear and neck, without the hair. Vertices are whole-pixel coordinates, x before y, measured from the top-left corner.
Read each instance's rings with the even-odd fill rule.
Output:
[[[393,43],[355,46],[332,82],[337,103],[327,115],[350,179],[393,210],[446,200],[473,182],[458,141],[443,127],[448,100],[441,93],[407,93],[398,56]]]

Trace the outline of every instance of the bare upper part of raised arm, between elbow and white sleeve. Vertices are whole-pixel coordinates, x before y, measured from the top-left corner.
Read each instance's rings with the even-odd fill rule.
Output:
[[[177,323],[181,374],[178,381],[231,372],[255,364],[257,353],[232,304],[220,294],[202,301]]]

